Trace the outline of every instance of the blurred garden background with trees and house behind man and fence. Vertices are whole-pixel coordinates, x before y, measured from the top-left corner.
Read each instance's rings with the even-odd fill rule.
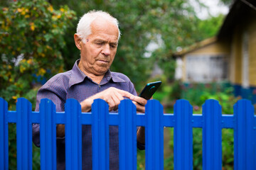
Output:
[[[138,93],[163,81],[154,98],[173,113],[185,98],[193,113],[209,98],[233,114],[240,98],[256,103],[256,1],[253,0],[1,0],[0,96],[36,106],[36,92],[50,77],[72,69],[80,57],[73,35],[90,10],[118,19],[122,36],[111,70],[126,74]],[[164,169],[174,169],[173,129],[166,128]],[[202,169],[201,129],[193,130],[193,166]],[[16,126],[9,125],[10,169],[16,169]],[[33,169],[40,169],[33,147]],[[144,169],[144,151],[138,151]],[[233,130],[223,130],[223,169],[233,169]]]

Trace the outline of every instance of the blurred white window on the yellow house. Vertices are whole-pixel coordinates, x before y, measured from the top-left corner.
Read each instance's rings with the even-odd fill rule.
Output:
[[[223,55],[186,57],[186,81],[208,83],[228,79],[228,61]]]

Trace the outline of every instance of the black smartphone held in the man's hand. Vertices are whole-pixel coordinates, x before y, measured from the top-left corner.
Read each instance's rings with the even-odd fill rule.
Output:
[[[160,85],[161,85],[161,81],[155,81],[155,82],[146,84],[146,86],[142,90],[142,93],[139,94],[139,96],[142,98],[145,98],[146,100],[149,100],[151,96],[153,96],[153,94],[159,88]]]

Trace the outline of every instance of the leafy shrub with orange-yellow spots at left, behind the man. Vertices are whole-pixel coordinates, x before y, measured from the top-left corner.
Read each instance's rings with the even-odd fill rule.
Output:
[[[43,0],[9,5],[0,10],[0,96],[9,103],[21,96],[36,101],[36,79],[63,71],[60,49],[75,12]]]

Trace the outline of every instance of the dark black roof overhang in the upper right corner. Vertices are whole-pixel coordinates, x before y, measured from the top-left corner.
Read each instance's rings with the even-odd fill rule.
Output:
[[[228,15],[225,17],[223,25],[220,27],[217,37],[227,38],[233,33],[233,28],[236,24],[245,21],[248,18],[250,11],[256,11],[255,0],[235,0],[230,7]]]

